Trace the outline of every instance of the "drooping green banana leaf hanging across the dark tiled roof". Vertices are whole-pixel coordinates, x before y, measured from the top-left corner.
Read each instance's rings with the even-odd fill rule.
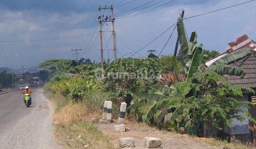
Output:
[[[213,65],[207,67],[205,71],[210,70],[217,72],[219,75],[241,76],[242,78],[246,75],[242,68],[231,65]]]

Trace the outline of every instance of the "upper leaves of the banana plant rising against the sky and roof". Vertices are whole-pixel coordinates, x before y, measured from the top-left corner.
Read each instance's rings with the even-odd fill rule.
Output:
[[[183,55],[184,63],[188,68],[187,75],[186,75],[187,81],[190,81],[191,78],[193,77],[193,74],[197,71],[213,70],[217,72],[219,75],[227,74],[227,75],[234,75],[234,76],[241,76],[241,77],[245,76],[245,72],[244,70],[242,70],[242,68],[226,65],[232,61],[231,59],[232,55],[230,54],[228,56],[223,57],[222,59],[219,59],[217,62],[213,63],[213,65],[217,65],[217,66],[211,65],[207,67],[205,65],[205,62],[207,60],[207,55],[203,55],[203,44],[200,44],[199,46],[197,46],[198,36],[196,32],[191,33],[190,42],[188,42],[187,33],[185,31],[184,23],[181,17],[178,17],[178,20],[177,20],[177,31],[178,31],[178,39],[181,45],[179,55],[181,54]],[[250,50],[248,49],[241,50],[241,52],[239,53],[242,53],[240,55],[246,55],[250,53]],[[175,67],[175,65],[173,65],[173,67]]]

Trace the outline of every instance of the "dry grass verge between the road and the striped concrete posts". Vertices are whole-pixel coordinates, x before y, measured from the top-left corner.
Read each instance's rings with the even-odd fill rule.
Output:
[[[85,103],[73,103],[61,96],[47,94],[55,107],[53,116],[54,136],[64,148],[112,149],[107,135],[95,127],[99,111]]]

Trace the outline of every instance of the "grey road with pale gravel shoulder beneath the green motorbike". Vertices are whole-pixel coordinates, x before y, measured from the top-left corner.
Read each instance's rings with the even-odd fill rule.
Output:
[[[32,88],[32,105],[26,107],[22,91],[0,95],[0,149],[59,148],[53,141],[53,107],[42,89]]]

